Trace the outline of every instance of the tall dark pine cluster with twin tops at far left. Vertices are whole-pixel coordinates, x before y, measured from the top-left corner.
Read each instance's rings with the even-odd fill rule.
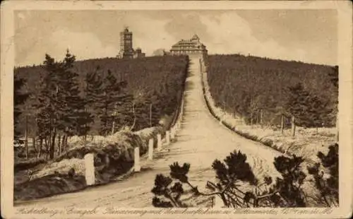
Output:
[[[84,110],[84,102],[78,88],[78,74],[72,71],[76,57],[68,51],[63,61],[55,61],[48,54],[44,61],[44,74],[40,81],[36,116],[40,139],[54,158],[56,138],[64,135],[61,146],[66,146],[68,136],[85,135],[90,115]],[[42,141],[42,140],[41,140]],[[42,143],[41,143],[42,144]]]

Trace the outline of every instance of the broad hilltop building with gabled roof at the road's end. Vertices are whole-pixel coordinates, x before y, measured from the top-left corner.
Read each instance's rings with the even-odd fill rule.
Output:
[[[199,55],[203,58],[207,56],[207,49],[203,43],[200,42],[198,35],[193,35],[190,40],[180,40],[170,49],[172,55]]]

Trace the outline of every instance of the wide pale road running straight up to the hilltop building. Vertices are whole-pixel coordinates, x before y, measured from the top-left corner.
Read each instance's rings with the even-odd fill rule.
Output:
[[[201,190],[207,180],[214,179],[211,169],[213,160],[224,159],[233,150],[246,153],[248,162],[258,178],[264,174],[277,176],[273,159],[280,155],[261,143],[250,141],[222,126],[210,114],[202,93],[201,73],[198,59],[191,59],[190,73],[186,83],[184,117],[177,140],[157,155],[147,170],[131,175],[121,182],[92,187],[72,194],[52,196],[28,201],[19,206],[62,208],[102,207],[151,207],[155,175],[168,174],[172,162],[189,162],[189,178]],[[18,206],[18,205],[17,205]]]

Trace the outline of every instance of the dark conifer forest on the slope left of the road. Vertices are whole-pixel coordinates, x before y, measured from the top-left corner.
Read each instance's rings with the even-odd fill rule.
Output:
[[[35,139],[54,158],[70,136],[107,136],[164,125],[179,106],[189,58],[90,59],[49,54],[40,66],[14,69],[15,140]],[[28,151],[25,153],[28,157]]]

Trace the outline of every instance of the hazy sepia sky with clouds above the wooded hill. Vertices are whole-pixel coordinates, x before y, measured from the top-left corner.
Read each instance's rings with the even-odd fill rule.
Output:
[[[47,53],[78,60],[116,57],[119,32],[150,56],[197,34],[209,54],[337,64],[333,10],[16,11],[15,65],[41,64]]]

